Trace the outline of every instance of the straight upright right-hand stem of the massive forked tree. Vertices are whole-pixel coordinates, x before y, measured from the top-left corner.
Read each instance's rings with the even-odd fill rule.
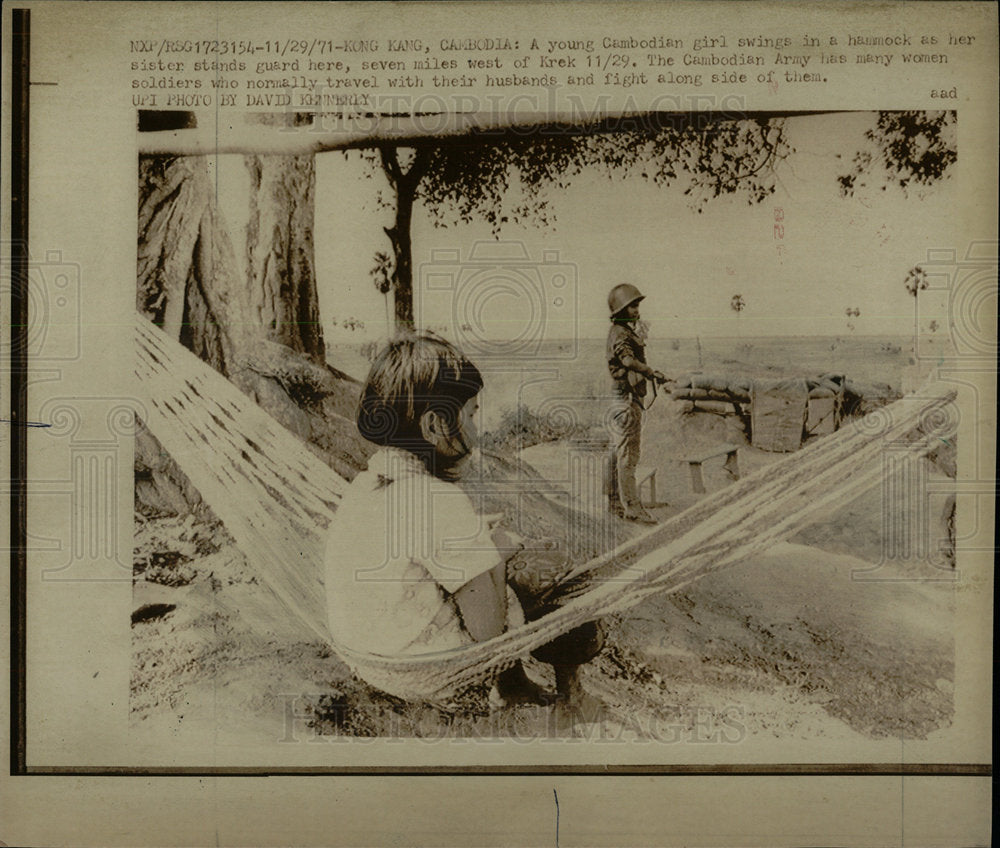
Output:
[[[323,362],[323,329],[313,270],[312,156],[247,156],[248,300],[264,338]]]

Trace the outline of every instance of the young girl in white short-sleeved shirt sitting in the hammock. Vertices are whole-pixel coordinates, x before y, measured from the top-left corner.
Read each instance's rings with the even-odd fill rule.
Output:
[[[456,484],[476,444],[479,370],[448,342],[411,334],[378,356],[361,393],[358,429],[381,447],[337,508],[326,551],[330,633],[354,672],[390,694],[392,675],[364,654],[460,648],[498,636],[517,601],[507,588],[513,538],[489,526]],[[578,667],[603,643],[595,624],[539,648],[557,692],[576,698]],[[497,675],[502,703],[548,703],[520,663]]]

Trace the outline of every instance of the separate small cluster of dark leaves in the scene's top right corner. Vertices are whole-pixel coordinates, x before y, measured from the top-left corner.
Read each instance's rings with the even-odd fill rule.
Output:
[[[945,178],[958,159],[956,123],[953,111],[879,112],[865,133],[868,144],[855,153],[850,172],[839,177],[841,195],[881,184],[882,191],[896,185],[905,196]]]

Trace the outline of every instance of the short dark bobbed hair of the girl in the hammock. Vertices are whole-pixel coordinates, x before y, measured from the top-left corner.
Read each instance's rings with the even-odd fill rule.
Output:
[[[434,409],[457,424],[479,394],[479,369],[450,342],[428,333],[397,336],[378,354],[361,390],[358,430],[377,445],[424,451],[420,418]]]

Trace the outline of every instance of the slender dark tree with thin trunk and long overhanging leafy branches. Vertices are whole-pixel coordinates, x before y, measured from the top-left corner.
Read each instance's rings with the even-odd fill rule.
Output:
[[[395,194],[395,220],[385,228],[392,261],[376,257],[373,278],[391,275],[396,322],[413,325],[410,227],[419,201],[434,224],[483,220],[494,237],[517,223],[550,227],[549,193],[585,171],[683,185],[692,209],[713,198],[742,195],[750,204],[774,192],[775,167],[793,151],[784,119],[716,120],[704,115],[655,115],[618,124],[535,126],[472,132],[459,138],[383,144],[361,151],[368,175],[381,173]]]

